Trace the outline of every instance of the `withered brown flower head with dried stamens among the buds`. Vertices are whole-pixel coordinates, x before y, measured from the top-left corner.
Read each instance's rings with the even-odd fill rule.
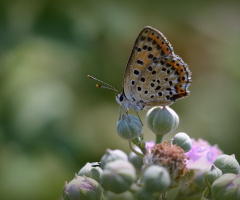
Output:
[[[166,168],[174,185],[189,171],[186,167],[186,160],[187,157],[181,147],[163,142],[147,149],[144,166],[158,165]]]

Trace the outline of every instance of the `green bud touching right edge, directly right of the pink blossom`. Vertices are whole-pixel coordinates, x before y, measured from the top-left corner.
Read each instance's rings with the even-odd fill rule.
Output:
[[[219,155],[214,163],[217,168],[219,168],[223,174],[226,173],[233,173],[238,174],[239,173],[239,163],[236,160],[234,155],[226,155],[222,154]]]

